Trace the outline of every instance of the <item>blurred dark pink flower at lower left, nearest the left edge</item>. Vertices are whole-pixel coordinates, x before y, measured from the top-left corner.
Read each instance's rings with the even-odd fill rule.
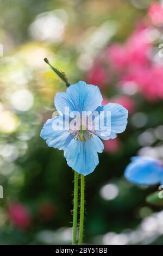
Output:
[[[12,223],[22,230],[26,230],[32,224],[32,217],[28,208],[21,203],[12,203],[8,207],[8,213]]]

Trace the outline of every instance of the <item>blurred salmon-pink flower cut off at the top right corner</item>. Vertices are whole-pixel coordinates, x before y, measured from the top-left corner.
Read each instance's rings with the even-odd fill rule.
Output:
[[[153,25],[163,25],[163,5],[160,3],[153,3],[149,7],[148,16],[151,19]]]

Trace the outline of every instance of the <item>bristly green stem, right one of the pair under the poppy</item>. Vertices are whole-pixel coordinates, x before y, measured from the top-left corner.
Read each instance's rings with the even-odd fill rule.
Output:
[[[81,174],[81,193],[80,193],[80,225],[78,245],[82,245],[84,228],[84,175]]]

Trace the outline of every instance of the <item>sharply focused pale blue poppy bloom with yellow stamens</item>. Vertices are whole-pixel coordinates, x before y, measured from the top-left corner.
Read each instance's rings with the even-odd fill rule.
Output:
[[[60,115],[48,119],[43,126],[40,136],[46,140],[49,147],[63,149],[68,166],[76,172],[87,175],[93,172],[98,164],[98,154],[102,153],[104,145],[101,139],[116,138],[116,133],[121,133],[126,129],[128,111],[116,103],[108,103],[102,106],[102,95],[97,86],[79,81],[67,88],[66,92],[57,93],[54,103]],[[92,117],[93,125],[80,129],[76,119],[71,114],[65,113],[68,107],[71,112],[90,112],[90,117],[94,113],[103,119],[103,125],[95,129],[96,117]],[[101,113],[110,112],[110,121],[107,115]],[[70,125],[75,119],[76,125]],[[68,129],[61,129],[61,126]],[[82,124],[83,125],[83,124]],[[55,129],[54,129],[55,126]],[[104,126],[104,127],[103,127]],[[105,127],[106,126],[106,127]],[[56,127],[58,127],[56,129]],[[101,139],[100,139],[101,138]]]

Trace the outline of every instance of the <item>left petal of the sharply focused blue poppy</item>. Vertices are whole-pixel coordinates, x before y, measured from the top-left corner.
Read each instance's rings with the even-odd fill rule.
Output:
[[[61,118],[62,117],[57,116],[52,119],[48,119],[45,125],[43,125],[40,136],[46,140],[49,147],[65,149],[71,142],[72,137],[67,130],[53,129],[53,125],[59,123]]]

